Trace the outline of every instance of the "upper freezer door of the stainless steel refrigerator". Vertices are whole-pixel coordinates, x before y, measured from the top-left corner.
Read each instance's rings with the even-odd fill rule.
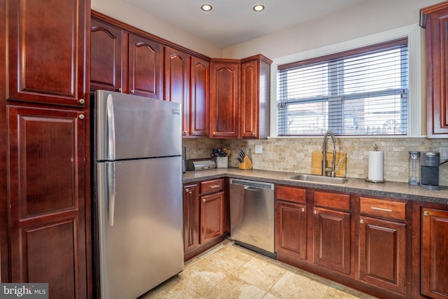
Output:
[[[95,92],[97,161],[182,155],[181,104]]]

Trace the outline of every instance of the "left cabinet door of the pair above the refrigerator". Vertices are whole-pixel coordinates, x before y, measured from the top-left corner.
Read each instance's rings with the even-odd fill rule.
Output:
[[[90,29],[90,88],[121,92],[123,32],[92,19]]]

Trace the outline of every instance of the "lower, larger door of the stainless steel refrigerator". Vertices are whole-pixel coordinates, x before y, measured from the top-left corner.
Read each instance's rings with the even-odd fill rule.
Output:
[[[102,298],[134,299],[183,270],[181,157],[101,162],[97,176]]]

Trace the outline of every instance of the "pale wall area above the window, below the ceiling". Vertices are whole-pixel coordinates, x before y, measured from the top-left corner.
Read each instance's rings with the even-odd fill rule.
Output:
[[[325,18],[223,49],[223,57],[270,59],[419,23],[420,8],[441,0],[367,0]]]

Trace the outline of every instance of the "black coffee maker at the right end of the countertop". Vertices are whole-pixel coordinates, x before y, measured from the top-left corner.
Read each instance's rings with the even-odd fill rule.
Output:
[[[423,151],[420,155],[420,187],[439,190],[440,153]]]

